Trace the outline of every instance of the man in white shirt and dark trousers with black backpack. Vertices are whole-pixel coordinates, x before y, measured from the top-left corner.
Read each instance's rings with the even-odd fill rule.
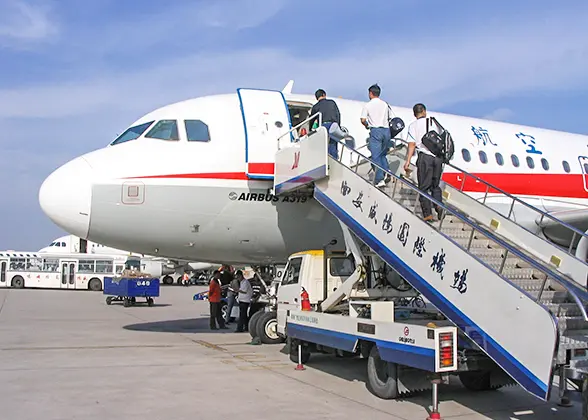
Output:
[[[409,171],[410,159],[414,155],[415,150],[418,152],[417,157],[417,180],[419,189],[439,202],[443,200],[439,182],[443,173],[443,161],[441,158],[435,156],[423,144],[423,136],[427,132],[434,129],[434,127],[427,127],[427,108],[423,104],[416,104],[412,107],[412,112],[416,117],[416,121],[408,126],[408,134],[406,141],[408,142],[408,153],[406,155],[406,162],[404,162],[404,170]],[[423,218],[427,222],[433,221],[432,203],[425,196],[420,196],[421,208],[423,210]],[[442,216],[442,209],[435,205],[435,210],[439,219]]]

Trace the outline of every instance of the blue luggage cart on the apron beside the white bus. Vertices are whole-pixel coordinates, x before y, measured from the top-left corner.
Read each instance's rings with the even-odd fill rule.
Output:
[[[137,303],[136,298],[144,297],[147,305],[153,306],[153,298],[159,296],[159,279],[152,277],[104,277],[106,304],[123,302],[125,307]]]

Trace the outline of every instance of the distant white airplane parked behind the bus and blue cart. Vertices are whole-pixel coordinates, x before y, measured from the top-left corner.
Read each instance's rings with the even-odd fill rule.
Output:
[[[141,255],[136,252],[123,251],[121,249],[112,248],[106,245],[98,244],[96,242],[88,241],[75,235],[66,235],[55,238],[51,243],[41,248],[39,253],[51,254],[76,254],[88,253],[96,255],[108,256],[140,256],[145,260],[156,264],[149,264],[149,272],[164,276],[165,283],[172,283],[171,275],[176,273],[183,273],[184,271],[206,271],[219,268],[220,264],[211,264],[206,262],[186,262],[178,260],[168,260],[151,255]],[[181,274],[177,277],[177,282],[181,279]]]

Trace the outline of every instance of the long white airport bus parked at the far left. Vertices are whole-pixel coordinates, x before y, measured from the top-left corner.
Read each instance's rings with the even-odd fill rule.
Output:
[[[104,277],[121,273],[125,261],[95,254],[0,252],[0,287],[100,291]]]

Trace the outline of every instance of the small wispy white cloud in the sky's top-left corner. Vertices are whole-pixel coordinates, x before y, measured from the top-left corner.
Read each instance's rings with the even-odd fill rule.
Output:
[[[45,40],[58,32],[47,7],[24,0],[0,2],[0,45],[14,47],[14,42]]]

